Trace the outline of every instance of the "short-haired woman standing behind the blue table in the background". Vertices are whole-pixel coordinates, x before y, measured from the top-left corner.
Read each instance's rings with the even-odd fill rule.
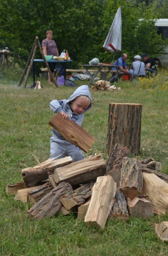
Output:
[[[46,39],[44,39],[42,42],[43,54],[59,56],[59,50],[57,48],[57,44],[55,43],[54,40],[52,40],[52,37],[53,37],[52,30],[46,31]],[[48,62],[48,65],[50,67],[52,74],[54,74],[55,63]],[[48,72],[48,83],[53,84],[52,77],[50,76],[49,72]]]

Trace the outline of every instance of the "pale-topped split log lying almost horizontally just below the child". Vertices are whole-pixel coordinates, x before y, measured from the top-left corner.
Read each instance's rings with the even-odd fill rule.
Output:
[[[97,177],[106,174],[106,161],[101,154],[69,164],[68,166],[56,168],[54,180],[59,183],[63,180],[73,185],[85,184],[95,181]]]

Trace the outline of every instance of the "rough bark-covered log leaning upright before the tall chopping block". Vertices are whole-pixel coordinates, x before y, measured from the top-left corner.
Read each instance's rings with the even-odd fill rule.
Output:
[[[116,143],[109,156],[106,173],[113,177],[113,180],[116,182],[116,187],[120,186],[122,159],[123,157],[129,156],[129,154],[129,148],[123,146],[122,144]]]

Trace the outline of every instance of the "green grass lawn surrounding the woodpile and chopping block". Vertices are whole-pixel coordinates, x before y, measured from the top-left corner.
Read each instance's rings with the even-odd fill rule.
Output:
[[[5,72],[4,72],[5,71]],[[48,121],[53,113],[52,99],[67,99],[74,88],[50,86],[41,79],[43,89],[17,87],[21,70],[1,70],[0,93],[0,255],[80,255],[80,256],[165,256],[167,244],[155,234],[155,223],[167,221],[167,215],[148,220],[110,219],[101,230],[86,226],[75,214],[54,216],[44,220],[27,218],[29,205],[16,202],[6,195],[6,185],[22,182],[21,170],[48,159],[51,129]],[[87,81],[76,82],[78,85]],[[28,86],[32,85],[32,77]],[[93,108],[83,121],[83,128],[97,138],[94,147],[85,154],[102,152],[106,157],[108,108],[110,102],[143,104],[141,127],[141,155],[153,157],[162,163],[162,172],[168,174],[168,116],[167,70],[159,70],[155,79],[123,82],[116,86],[121,92],[94,92],[90,90]]]

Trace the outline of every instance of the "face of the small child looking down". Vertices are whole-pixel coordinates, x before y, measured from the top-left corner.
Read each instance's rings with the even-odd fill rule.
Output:
[[[70,108],[76,115],[83,114],[85,110],[90,105],[90,99],[88,97],[79,96],[76,99],[72,100],[70,103]]]

